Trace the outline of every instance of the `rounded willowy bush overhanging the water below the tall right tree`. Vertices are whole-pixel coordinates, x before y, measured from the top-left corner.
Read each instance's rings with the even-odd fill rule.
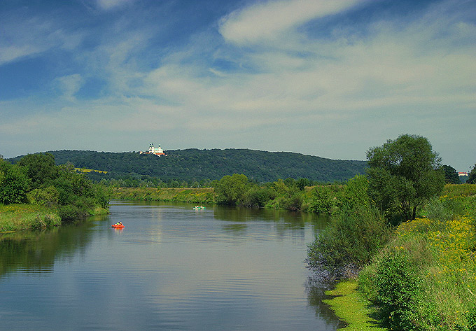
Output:
[[[310,269],[325,269],[330,276],[356,276],[386,244],[390,229],[374,207],[343,209],[319,232],[308,247]]]

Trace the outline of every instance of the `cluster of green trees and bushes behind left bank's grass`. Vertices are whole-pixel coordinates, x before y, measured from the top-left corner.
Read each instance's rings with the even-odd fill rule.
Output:
[[[104,212],[109,194],[102,185],[77,174],[73,164],[56,166],[55,157],[48,153],[27,155],[17,164],[0,160],[0,203],[27,201],[69,220]],[[50,216],[41,216],[30,225],[36,228],[50,223]]]

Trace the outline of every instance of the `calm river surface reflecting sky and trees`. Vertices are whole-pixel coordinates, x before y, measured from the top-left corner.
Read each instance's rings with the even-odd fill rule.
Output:
[[[303,262],[325,219],[192,207],[115,201],[108,216],[0,234],[0,330],[337,329]]]

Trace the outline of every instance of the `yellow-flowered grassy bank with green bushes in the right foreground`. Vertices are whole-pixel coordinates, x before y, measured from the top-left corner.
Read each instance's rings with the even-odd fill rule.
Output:
[[[399,225],[384,253],[360,272],[360,290],[379,298],[393,330],[474,330],[476,197],[461,195],[460,186],[447,185],[447,195],[431,199],[425,218]]]

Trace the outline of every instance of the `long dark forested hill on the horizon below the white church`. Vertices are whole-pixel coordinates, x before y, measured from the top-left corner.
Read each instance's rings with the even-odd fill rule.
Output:
[[[248,149],[166,150],[168,156],[134,152],[109,153],[91,150],[53,150],[57,164],[71,162],[75,167],[109,171],[108,178],[124,174],[202,181],[225,175],[245,174],[258,182],[279,178],[309,178],[311,181],[345,181],[364,174],[367,162],[331,160],[290,152],[265,152]],[[20,160],[21,156],[10,159]]]

